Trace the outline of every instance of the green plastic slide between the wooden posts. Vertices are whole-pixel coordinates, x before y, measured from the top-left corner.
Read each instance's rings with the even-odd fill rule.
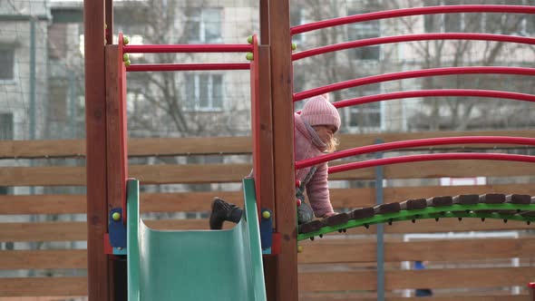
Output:
[[[254,180],[243,180],[245,218],[227,230],[155,230],[128,181],[128,296],[134,300],[266,300]]]

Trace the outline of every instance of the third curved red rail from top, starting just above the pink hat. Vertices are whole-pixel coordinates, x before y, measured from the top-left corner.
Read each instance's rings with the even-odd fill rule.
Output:
[[[535,68],[524,67],[495,67],[495,66],[475,66],[475,67],[446,67],[423,70],[404,71],[399,73],[386,73],[372,75],[355,80],[349,80],[341,83],[331,83],[316,89],[297,92],[294,94],[294,102],[304,100],[326,92],[333,92],[361,86],[370,83],[383,83],[394,80],[404,80],[408,78],[417,78],[437,75],[454,75],[454,74],[515,74],[515,75],[535,75]]]

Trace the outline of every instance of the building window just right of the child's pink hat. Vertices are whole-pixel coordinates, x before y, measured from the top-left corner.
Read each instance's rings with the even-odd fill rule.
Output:
[[[381,92],[381,84],[369,84],[363,86],[357,94],[360,96],[375,95]],[[360,131],[378,129],[381,127],[381,102],[371,102],[348,108],[348,123],[351,128]]]

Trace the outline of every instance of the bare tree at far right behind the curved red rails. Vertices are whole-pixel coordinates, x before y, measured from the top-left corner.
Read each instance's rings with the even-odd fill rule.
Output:
[[[514,3],[513,3],[514,2]],[[456,0],[448,5],[489,4],[488,1]],[[521,5],[522,1],[496,4]],[[400,2],[389,0],[388,8],[398,8]],[[426,1],[424,5],[443,5],[439,0]],[[414,18],[412,19],[414,20]],[[532,19],[527,15],[513,14],[443,14],[425,15],[421,24],[401,19],[400,24],[407,34],[437,32],[465,32],[486,34],[525,34],[530,30]],[[520,44],[482,41],[423,41],[410,44],[420,60],[414,68],[421,69],[462,66],[526,66],[528,60],[519,60],[515,55],[530,47]],[[517,53],[517,54],[514,54]],[[511,75],[457,75],[426,77],[422,89],[483,89],[532,93],[532,86],[525,76]],[[503,129],[533,124],[533,112],[525,110],[529,103],[496,99],[473,99],[467,97],[433,97],[423,101],[422,110],[413,113],[410,127],[419,130]]]

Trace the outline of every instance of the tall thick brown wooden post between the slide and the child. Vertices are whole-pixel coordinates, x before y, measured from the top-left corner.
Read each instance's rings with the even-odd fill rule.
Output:
[[[266,11],[266,9],[268,11]],[[260,3],[260,43],[269,45],[275,225],[280,253],[266,259],[269,300],[297,300],[297,222],[289,0]],[[266,34],[266,32],[268,34]]]

